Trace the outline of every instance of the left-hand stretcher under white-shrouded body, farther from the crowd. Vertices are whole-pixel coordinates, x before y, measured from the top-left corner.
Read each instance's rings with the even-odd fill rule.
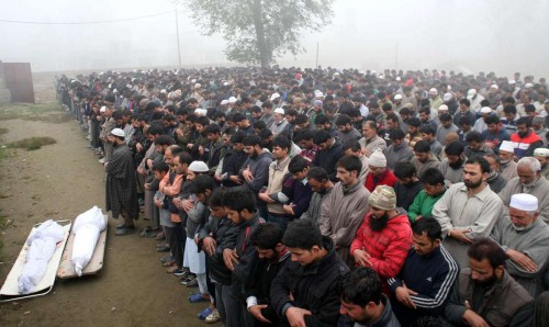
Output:
[[[26,244],[26,239],[29,239],[29,237],[34,233],[34,230],[41,225],[36,224],[29,234],[29,237],[25,239],[25,244],[23,245],[23,248],[21,249],[18,259],[13,263],[13,267],[11,268],[10,273],[5,279],[5,282],[3,283],[2,289],[0,290],[0,302],[41,296],[52,291],[55,283],[57,268],[59,267],[59,260],[61,259],[63,251],[65,250],[65,246],[67,245],[67,239],[70,235],[70,228],[72,226],[71,221],[56,221],[56,223],[61,225],[63,229],[65,230],[64,239],[57,244],[55,252],[52,256],[52,259],[49,259],[46,272],[44,273],[44,277],[40,281],[40,283],[34,286],[34,291],[32,293],[29,294],[19,293],[18,280],[19,275],[21,274],[25,266],[26,252],[29,251],[29,245]]]

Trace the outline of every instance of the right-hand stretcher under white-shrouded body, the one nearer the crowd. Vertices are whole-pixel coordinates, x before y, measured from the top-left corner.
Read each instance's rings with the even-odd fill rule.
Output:
[[[98,243],[96,249],[93,250],[93,256],[91,256],[90,262],[82,270],[82,275],[96,274],[101,269],[103,269],[103,258],[104,258],[104,247],[107,244],[107,228],[109,227],[108,216],[104,216],[105,229],[99,233]],[[57,269],[57,277],[60,279],[71,279],[78,277],[70,258],[72,257],[72,245],[75,243],[75,233],[70,233],[70,236],[65,247],[65,252],[63,252],[61,262],[59,263],[59,269]]]

